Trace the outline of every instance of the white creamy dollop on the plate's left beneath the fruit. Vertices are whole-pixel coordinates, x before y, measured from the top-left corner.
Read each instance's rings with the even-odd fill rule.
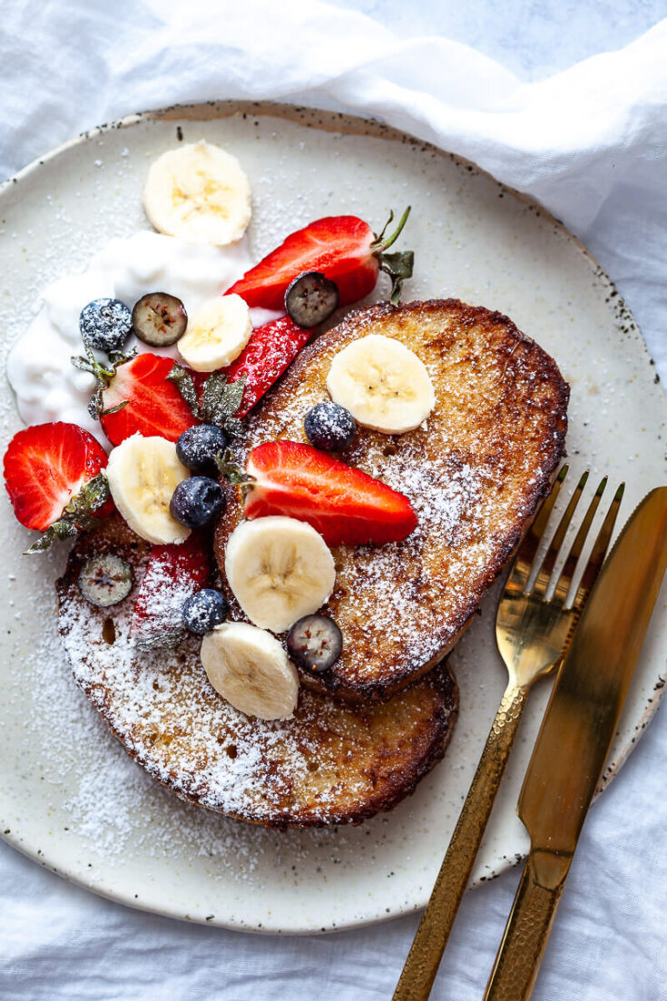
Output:
[[[91,431],[108,447],[98,423],[88,413],[95,380],[71,363],[83,353],[79,314],[93,299],[120,299],[130,308],[147,292],[168,292],[183,302],[188,316],[228,288],[252,261],[245,239],[218,247],[186,243],[174,236],[141,230],[116,237],[94,254],[80,274],[68,274],[42,292],[42,306],[12,347],[7,376],[26,424],[67,420]],[[251,309],[253,326],[282,313]],[[177,358],[177,344],[149,347],[134,336],[127,349],[152,351]],[[100,355],[100,357],[102,357]]]

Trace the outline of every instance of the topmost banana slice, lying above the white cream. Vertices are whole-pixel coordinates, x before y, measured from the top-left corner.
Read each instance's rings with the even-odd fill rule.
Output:
[[[250,184],[235,156],[201,139],[151,164],[143,207],[160,233],[223,246],[250,221]]]

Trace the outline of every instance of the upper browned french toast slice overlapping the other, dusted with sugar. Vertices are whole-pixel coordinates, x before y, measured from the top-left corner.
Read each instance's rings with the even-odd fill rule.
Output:
[[[306,440],[303,418],[328,398],[335,354],[370,333],[415,351],[436,406],[406,434],[361,428],[340,456],[406,493],[419,519],[403,542],[335,551],[337,586],[323,612],[343,632],[343,654],[303,681],[348,702],[390,697],[454,646],[549,489],[564,454],[570,392],[553,358],[501,313],[457,299],[380,303],[350,313],[301,351],[248,415],[241,464],[262,441]],[[225,489],[216,558],[230,617],[242,620],[224,581],[242,497],[236,486]]]

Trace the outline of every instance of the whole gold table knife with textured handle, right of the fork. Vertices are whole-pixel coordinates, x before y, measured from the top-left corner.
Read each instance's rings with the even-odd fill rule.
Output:
[[[531,995],[666,567],[662,486],[623,529],[556,679],[519,798],[531,851],[485,1001]]]

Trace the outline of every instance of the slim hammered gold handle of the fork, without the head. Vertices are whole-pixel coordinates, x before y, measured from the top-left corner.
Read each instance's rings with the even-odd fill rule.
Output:
[[[427,1001],[431,994],[519,730],[527,694],[527,688],[513,685],[505,690],[393,1001]]]

